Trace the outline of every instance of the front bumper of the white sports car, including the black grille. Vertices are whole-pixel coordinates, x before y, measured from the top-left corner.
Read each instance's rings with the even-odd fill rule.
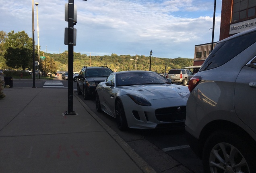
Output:
[[[184,128],[186,119],[187,98],[158,99],[151,102],[152,106],[140,106],[128,96],[122,97],[122,103],[128,127],[136,129]],[[181,113],[171,112],[172,108],[181,107]],[[169,113],[162,110],[167,109]],[[159,110],[160,113],[159,113]],[[169,117],[168,117],[169,116]]]

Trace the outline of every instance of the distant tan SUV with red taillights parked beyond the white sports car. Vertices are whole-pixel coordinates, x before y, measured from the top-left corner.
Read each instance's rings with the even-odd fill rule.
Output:
[[[171,69],[167,74],[167,78],[171,79],[172,82],[179,82],[185,86],[192,76],[194,76],[193,72],[188,69]]]

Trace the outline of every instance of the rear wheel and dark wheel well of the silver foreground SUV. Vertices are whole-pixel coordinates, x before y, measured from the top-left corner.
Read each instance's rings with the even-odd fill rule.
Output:
[[[244,136],[229,131],[210,135],[203,149],[204,173],[255,173],[255,142]]]

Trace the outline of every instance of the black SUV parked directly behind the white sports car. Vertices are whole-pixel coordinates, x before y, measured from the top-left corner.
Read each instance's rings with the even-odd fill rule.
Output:
[[[77,76],[77,94],[85,100],[95,94],[95,89],[100,82],[106,80],[107,76],[113,71],[107,66],[87,67],[83,66]]]

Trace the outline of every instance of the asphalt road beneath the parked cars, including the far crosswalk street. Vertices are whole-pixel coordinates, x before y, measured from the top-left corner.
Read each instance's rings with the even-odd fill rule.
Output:
[[[60,89],[68,89],[68,80],[51,81],[63,84],[61,87],[59,84],[56,85]],[[49,80],[36,80],[35,87],[44,87],[45,82],[49,82]],[[13,87],[33,87],[33,81],[13,80]],[[73,82],[73,90],[74,94],[77,94],[76,82]],[[79,98],[157,173],[203,173],[202,162],[190,149],[184,130],[129,129],[128,131],[120,131],[116,125],[116,119],[96,111],[94,99],[84,100],[81,95]]]

